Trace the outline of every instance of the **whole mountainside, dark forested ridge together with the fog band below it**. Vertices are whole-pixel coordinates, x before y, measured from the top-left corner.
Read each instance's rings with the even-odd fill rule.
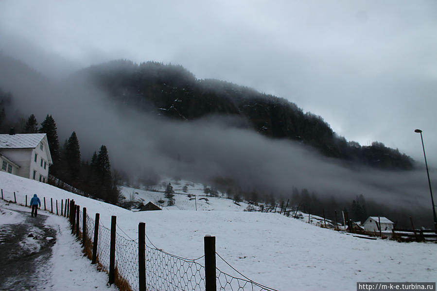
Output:
[[[390,207],[431,221],[426,175],[398,150],[347,142],[293,103],[180,66],[116,61],[54,81],[0,56],[0,88],[6,119],[51,114],[61,144],[74,131],[85,160],[106,145],[130,182],[180,177],[273,201],[305,189],[306,200],[336,200],[332,209],[362,194],[380,204],[368,214]]]

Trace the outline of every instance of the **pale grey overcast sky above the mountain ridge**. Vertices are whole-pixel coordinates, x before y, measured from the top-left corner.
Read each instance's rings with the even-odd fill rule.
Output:
[[[434,0],[2,0],[0,51],[49,76],[120,58],[180,64],[422,161],[420,128],[437,165]]]

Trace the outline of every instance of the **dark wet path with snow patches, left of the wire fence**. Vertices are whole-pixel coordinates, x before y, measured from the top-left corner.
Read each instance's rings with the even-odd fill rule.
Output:
[[[31,217],[30,209],[9,210],[24,219],[17,224],[0,224],[0,290],[42,290],[40,283],[47,278],[37,270],[44,270],[52,255],[56,230],[45,225],[46,215]]]

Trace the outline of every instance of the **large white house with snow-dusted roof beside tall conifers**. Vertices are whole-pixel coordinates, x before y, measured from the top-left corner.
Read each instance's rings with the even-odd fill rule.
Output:
[[[46,134],[0,135],[1,171],[46,183],[52,163]]]

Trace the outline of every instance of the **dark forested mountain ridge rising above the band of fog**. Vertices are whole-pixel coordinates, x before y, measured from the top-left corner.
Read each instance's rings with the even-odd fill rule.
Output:
[[[240,117],[271,138],[310,145],[322,154],[387,170],[410,170],[413,159],[380,142],[361,146],[337,136],[320,116],[304,113],[295,103],[232,83],[196,79],[177,65],[119,60],[85,68],[85,77],[128,106],[179,120],[212,114]]]

